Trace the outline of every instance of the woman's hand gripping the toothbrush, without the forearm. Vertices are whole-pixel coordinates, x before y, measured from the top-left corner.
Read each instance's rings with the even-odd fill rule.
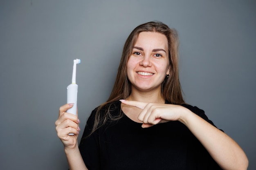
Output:
[[[79,134],[79,119],[76,115],[67,113],[69,108],[72,108],[73,104],[65,104],[59,109],[58,120],[55,121],[56,131],[58,137],[64,145],[65,149],[74,149],[77,147],[77,137]],[[74,133],[74,135],[68,135]]]

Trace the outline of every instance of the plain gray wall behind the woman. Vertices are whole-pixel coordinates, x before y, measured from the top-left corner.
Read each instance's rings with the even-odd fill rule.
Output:
[[[186,102],[235,139],[255,170],[255,0],[0,0],[0,169],[67,169],[54,122],[73,59],[84,127],[110,95],[127,36],[151,20],[179,33]]]

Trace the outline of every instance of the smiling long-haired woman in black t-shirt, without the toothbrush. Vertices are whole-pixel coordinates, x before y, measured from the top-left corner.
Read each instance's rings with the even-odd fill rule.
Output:
[[[184,103],[178,78],[178,39],[162,22],[129,35],[108,101],[90,115],[80,146],[79,119],[59,110],[58,137],[70,170],[245,170],[238,144]],[[69,133],[75,135],[68,135]]]

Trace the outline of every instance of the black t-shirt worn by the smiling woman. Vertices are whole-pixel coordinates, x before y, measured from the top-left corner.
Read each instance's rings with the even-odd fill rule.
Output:
[[[115,116],[121,102],[113,103]],[[213,125],[204,111],[182,104]],[[89,170],[221,170],[190,130],[179,121],[142,128],[124,116],[109,122],[85,138],[94,124],[88,118],[79,149]],[[214,126],[214,125],[213,125]]]

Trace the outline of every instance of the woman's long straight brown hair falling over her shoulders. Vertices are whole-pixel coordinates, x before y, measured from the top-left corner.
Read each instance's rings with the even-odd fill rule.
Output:
[[[162,82],[162,96],[167,102],[172,104],[184,103],[178,74],[179,40],[177,36],[177,31],[175,29],[170,29],[166,24],[162,22],[147,22],[145,24],[141,24],[130,33],[124,44],[124,49],[114,87],[107,102],[101,104],[97,108],[95,113],[94,127],[90,135],[99,127],[104,125],[106,121],[115,121],[122,117],[121,112],[119,116],[115,117],[110,114],[110,110],[112,110],[111,104],[112,102],[118,101],[119,99],[126,99],[131,93],[131,84],[128,80],[126,71],[127,62],[132,53],[132,49],[138,38],[138,35],[141,32],[157,32],[162,33],[166,36],[168,40],[168,54],[171,71],[170,75],[166,77]]]

